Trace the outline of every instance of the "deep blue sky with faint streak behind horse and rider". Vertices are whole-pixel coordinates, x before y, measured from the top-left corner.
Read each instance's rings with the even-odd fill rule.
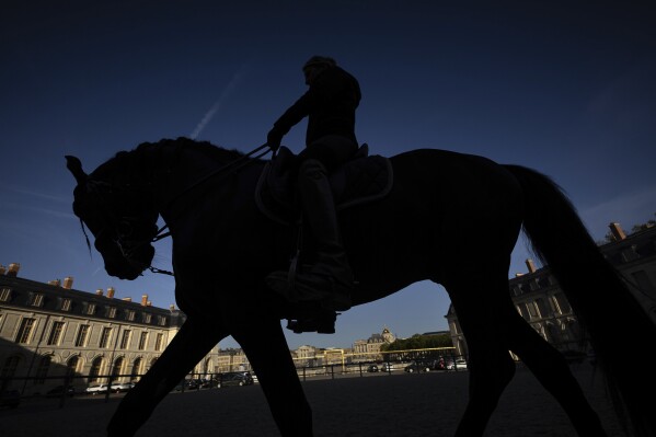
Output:
[[[250,151],[304,92],[300,67],[312,55],[359,79],[357,135],[372,153],[439,148],[534,168],[566,189],[597,240],[611,221],[629,230],[654,218],[654,7],[222,3],[2,2],[0,264],[168,308],[171,278],[118,280],[90,257],[64,156],[91,171],[179,136]],[[284,139],[297,152],[304,126]],[[170,242],[157,249],[156,265],[170,268]],[[520,241],[509,276],[528,256]],[[421,283],[344,313],[334,335],[287,336],[292,348],[348,347],[383,326],[401,337],[446,330],[448,304]]]

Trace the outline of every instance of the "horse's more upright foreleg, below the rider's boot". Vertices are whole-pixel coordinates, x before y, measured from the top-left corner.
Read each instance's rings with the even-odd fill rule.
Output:
[[[262,319],[261,319],[262,320]],[[266,326],[244,326],[232,336],[243,347],[274,421],[283,437],[311,437],[312,411],[289,354],[280,322],[272,320]],[[262,332],[266,338],[262,338]]]

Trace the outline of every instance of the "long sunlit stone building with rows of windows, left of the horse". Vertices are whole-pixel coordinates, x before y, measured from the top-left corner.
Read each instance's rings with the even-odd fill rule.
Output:
[[[72,289],[72,278],[43,284],[18,276],[20,266],[0,267],[0,384],[24,395],[45,393],[72,376],[82,390],[90,383],[138,380],[175,336],[185,314]],[[196,372],[219,368],[212,349]]]

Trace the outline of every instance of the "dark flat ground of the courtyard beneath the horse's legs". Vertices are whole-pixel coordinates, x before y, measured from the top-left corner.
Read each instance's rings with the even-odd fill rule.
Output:
[[[621,432],[599,378],[587,364],[573,367],[611,437]],[[314,412],[317,437],[451,436],[467,402],[468,373],[367,375],[303,383]],[[0,411],[4,437],[104,436],[119,396],[79,398],[64,409],[56,401],[26,400]],[[258,386],[171,393],[138,437],[279,436]],[[518,369],[487,427],[486,437],[575,436],[560,406],[530,372]]]

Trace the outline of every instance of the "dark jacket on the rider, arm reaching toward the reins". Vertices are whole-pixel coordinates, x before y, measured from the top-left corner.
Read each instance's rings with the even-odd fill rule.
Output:
[[[355,136],[355,110],[360,103],[360,85],[356,78],[339,67],[327,68],[319,74],[308,91],[291,105],[276,123],[274,129],[280,138],[308,117],[306,146],[329,135],[352,139]]]

